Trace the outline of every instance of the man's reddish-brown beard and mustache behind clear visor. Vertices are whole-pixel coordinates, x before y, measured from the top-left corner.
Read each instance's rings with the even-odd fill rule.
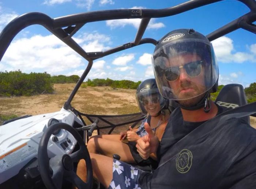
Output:
[[[195,91],[181,94],[180,92],[186,88],[193,88]],[[204,97],[204,93],[205,93],[205,86],[198,86],[195,83],[188,82],[188,81],[182,82],[180,84],[180,88],[178,89],[177,96],[178,96],[178,99],[185,99],[185,100],[179,100],[178,103],[180,103],[180,105],[185,107],[195,106]]]

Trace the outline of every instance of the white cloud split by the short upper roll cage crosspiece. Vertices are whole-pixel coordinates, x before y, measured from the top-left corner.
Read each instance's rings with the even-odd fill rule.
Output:
[[[140,18],[135,18],[135,19],[119,19],[119,20],[107,20],[106,24],[109,26],[111,29],[115,29],[116,27],[124,27],[126,25],[132,25],[136,29],[139,28],[140,26]],[[165,27],[165,25],[162,22],[155,22],[155,19],[152,18],[150,22],[148,23],[148,29],[159,29]]]

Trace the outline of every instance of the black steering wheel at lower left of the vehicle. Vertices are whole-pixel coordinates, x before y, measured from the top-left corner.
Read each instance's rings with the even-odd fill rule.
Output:
[[[80,149],[70,155],[56,155],[49,160],[47,146],[50,136],[58,129],[65,129],[70,132],[78,141]],[[87,182],[76,175],[73,170],[73,162],[84,159],[87,167]],[[56,123],[46,129],[38,147],[38,167],[42,180],[48,189],[61,189],[63,178],[72,182],[77,188],[91,189],[93,184],[93,168],[89,152],[82,137],[70,125],[65,123]]]

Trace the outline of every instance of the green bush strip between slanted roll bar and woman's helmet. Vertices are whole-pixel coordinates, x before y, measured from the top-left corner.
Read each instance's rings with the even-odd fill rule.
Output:
[[[88,79],[87,80],[87,86],[91,86],[91,87],[112,87],[112,88],[125,88],[125,89],[136,89],[138,88],[139,84],[141,83],[141,81],[138,82],[133,82],[130,80],[112,80],[112,79]]]

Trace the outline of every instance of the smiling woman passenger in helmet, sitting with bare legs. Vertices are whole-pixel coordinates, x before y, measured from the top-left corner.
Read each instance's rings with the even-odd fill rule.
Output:
[[[143,160],[136,150],[136,140],[147,135],[144,124],[147,122],[161,140],[170,116],[169,100],[164,99],[158,91],[155,79],[147,79],[140,83],[136,91],[136,101],[142,114],[147,115],[138,129],[121,132],[120,135],[97,135],[90,138],[87,148],[91,153],[112,157],[120,155],[122,161],[136,163],[144,170],[157,167],[156,157]],[[128,143],[123,142],[127,138]]]

